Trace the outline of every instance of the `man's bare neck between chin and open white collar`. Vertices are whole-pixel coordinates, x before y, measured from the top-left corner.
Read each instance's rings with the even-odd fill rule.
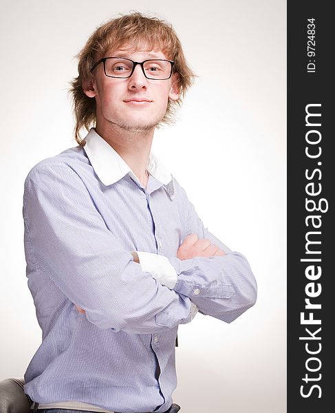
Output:
[[[118,152],[138,180],[146,187],[148,182],[146,168],[154,129],[149,131],[128,131],[118,125],[111,125],[108,130],[97,125],[95,129],[96,133]]]

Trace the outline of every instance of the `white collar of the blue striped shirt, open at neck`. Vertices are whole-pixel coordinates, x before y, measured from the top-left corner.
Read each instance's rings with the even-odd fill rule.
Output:
[[[129,165],[118,152],[91,128],[85,138],[85,152],[100,181],[106,186],[114,184],[127,173],[138,182],[138,178],[131,171]],[[173,177],[162,162],[152,152],[149,155],[147,170],[151,175],[162,182],[172,199],[174,196]]]

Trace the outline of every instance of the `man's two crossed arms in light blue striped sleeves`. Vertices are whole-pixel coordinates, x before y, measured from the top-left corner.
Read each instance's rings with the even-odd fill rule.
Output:
[[[191,321],[193,304],[202,314],[233,321],[255,303],[248,261],[204,228],[175,182],[188,237],[175,257],[153,254],[173,267],[177,281],[170,288],[125,251],[76,171],[64,164],[34,168],[25,180],[23,205],[29,276],[36,282],[49,277],[102,329],[164,331]]]

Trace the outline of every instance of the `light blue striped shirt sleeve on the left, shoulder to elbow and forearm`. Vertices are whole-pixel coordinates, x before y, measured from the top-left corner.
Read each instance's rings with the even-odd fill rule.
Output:
[[[23,218],[28,276],[50,277],[92,324],[151,333],[194,317],[186,295],[162,286],[122,248],[70,167],[39,165],[30,171]]]

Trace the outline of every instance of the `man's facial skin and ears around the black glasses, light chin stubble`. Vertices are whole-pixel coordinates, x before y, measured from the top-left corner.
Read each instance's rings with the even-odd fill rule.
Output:
[[[123,57],[142,62],[147,59],[166,59],[160,51],[132,52],[125,47],[109,50],[105,57]],[[94,70],[94,81],[85,85],[84,92],[96,98],[97,128],[116,124],[129,131],[153,129],[164,117],[168,100],[177,100],[178,91],[173,76],[167,80],[148,79],[142,67],[136,65],[130,78],[111,78],[105,75],[103,63]]]

